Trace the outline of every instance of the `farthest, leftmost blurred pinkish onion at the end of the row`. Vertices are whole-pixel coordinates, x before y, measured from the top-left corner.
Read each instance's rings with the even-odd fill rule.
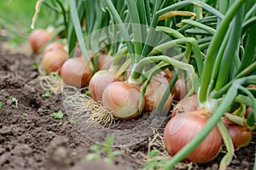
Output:
[[[44,45],[49,42],[51,33],[44,29],[36,29],[29,36],[30,46],[33,52],[38,53]]]

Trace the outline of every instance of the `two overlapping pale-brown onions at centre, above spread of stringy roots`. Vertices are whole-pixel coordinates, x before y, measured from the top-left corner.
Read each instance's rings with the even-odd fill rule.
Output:
[[[99,69],[108,68],[111,60],[108,58],[102,59],[107,60],[107,63],[102,65],[103,62],[99,60]],[[125,77],[116,77],[117,71],[114,66],[111,66],[108,70],[97,71],[91,77],[89,84],[91,97],[101,102],[109,111],[112,111],[113,116],[119,120],[137,118],[143,112],[143,110],[139,111],[141,91],[136,84],[125,80]]]

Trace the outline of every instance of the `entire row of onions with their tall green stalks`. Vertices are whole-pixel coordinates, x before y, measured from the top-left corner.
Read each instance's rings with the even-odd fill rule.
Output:
[[[38,1],[59,9],[56,30],[66,42],[46,46],[49,32],[38,33],[47,37],[41,42],[31,35],[46,71],[57,71],[76,88],[88,86],[91,98],[119,120],[153,111],[168,117],[177,101],[164,132],[173,156],[166,169],[178,161],[212,161],[223,144],[227,153],[219,168],[225,169],[234,148],[250,144],[255,0],[50,2]]]

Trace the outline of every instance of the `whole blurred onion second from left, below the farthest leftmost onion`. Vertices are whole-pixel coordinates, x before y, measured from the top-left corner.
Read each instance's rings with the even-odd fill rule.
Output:
[[[44,70],[55,72],[61,69],[61,65],[67,60],[68,54],[64,49],[49,51],[42,59]]]

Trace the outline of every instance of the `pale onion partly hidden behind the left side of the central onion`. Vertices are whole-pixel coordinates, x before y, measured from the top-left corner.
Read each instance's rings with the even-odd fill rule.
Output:
[[[89,90],[91,98],[96,101],[102,101],[104,89],[111,83],[118,81],[115,78],[116,71],[97,71],[90,79]]]

